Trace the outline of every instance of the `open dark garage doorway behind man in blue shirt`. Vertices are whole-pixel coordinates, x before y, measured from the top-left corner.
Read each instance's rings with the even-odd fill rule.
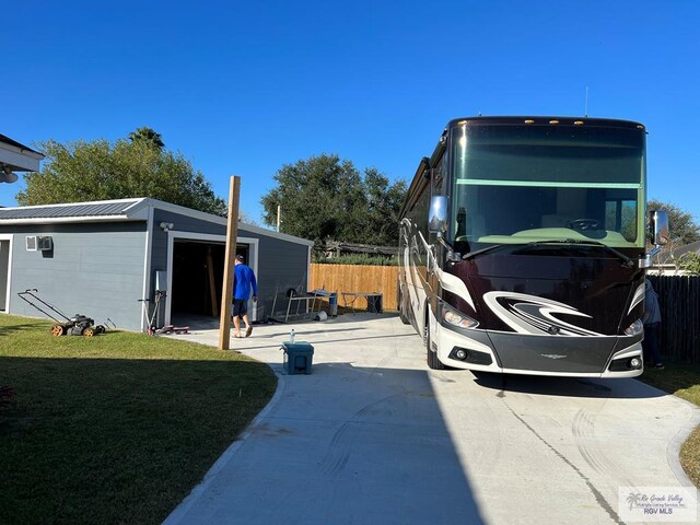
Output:
[[[236,254],[257,276],[257,238],[238,237]],[[225,237],[187,232],[170,232],[167,290],[164,324],[215,324],[220,318],[223,291]],[[257,320],[253,301],[248,304],[250,320]]]

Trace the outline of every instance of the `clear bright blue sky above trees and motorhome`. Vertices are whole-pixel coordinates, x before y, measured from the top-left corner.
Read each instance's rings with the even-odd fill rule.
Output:
[[[5,2],[0,132],[163,136],[259,224],[283,165],[337,153],[410,178],[445,124],[638,120],[649,196],[700,221],[700,2]],[[22,187],[0,184],[14,206]]]

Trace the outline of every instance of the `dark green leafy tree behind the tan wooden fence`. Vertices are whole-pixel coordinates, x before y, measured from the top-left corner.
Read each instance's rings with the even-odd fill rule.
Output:
[[[363,177],[352,162],[335,154],[285,164],[275,180],[278,186],[261,199],[266,224],[276,224],[279,205],[280,230],[291,235],[317,243],[398,243],[404,180],[389,185],[375,168],[365,170]]]

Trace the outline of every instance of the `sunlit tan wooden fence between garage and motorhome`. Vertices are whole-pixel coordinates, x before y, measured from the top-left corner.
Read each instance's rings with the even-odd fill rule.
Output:
[[[381,293],[383,308],[396,311],[397,278],[398,266],[312,264],[308,288],[338,292],[339,306],[343,306],[342,292]],[[366,298],[357,298],[352,306],[355,310],[366,310]]]

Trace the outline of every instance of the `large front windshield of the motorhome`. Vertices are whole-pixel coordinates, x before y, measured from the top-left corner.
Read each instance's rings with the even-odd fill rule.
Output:
[[[462,250],[592,240],[644,246],[644,131],[463,125],[451,135],[450,235]]]

